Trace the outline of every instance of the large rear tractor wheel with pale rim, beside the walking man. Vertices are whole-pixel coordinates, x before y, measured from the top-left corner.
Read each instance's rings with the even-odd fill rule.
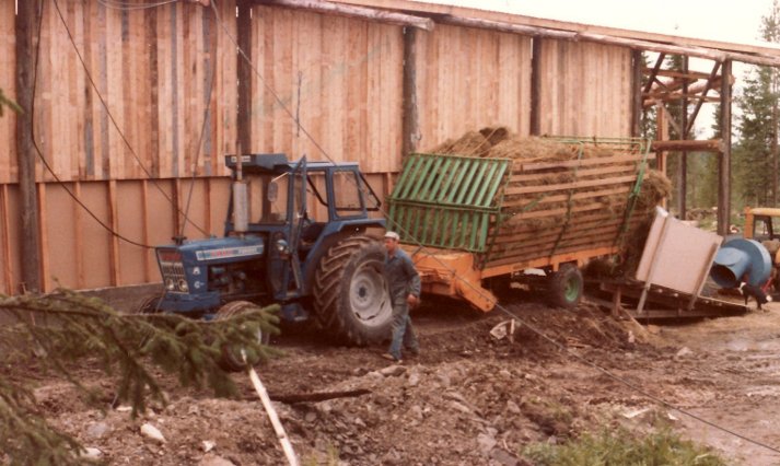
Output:
[[[314,305],[317,322],[335,339],[362,346],[389,337],[393,306],[384,260],[384,247],[364,235],[342,240],[321,259]]]

